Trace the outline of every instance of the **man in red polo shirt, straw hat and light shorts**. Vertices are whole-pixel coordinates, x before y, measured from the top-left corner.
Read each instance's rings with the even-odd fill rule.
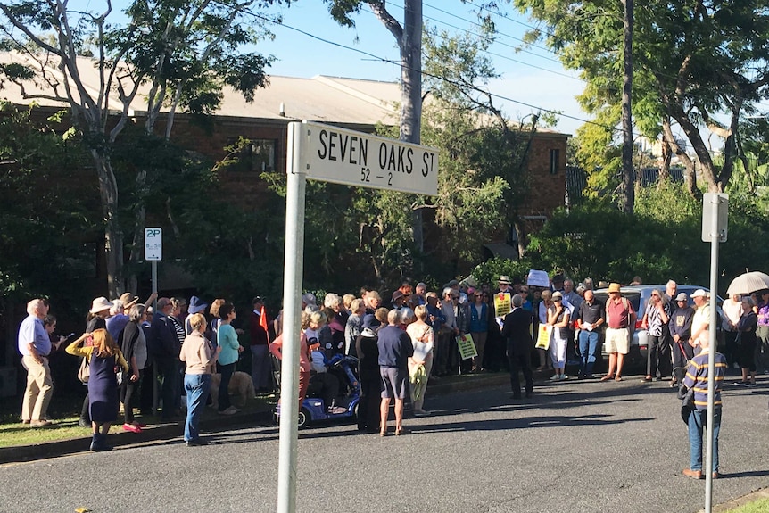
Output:
[[[636,314],[633,305],[622,297],[618,283],[608,285],[606,302],[606,351],[608,352],[608,374],[600,378],[608,381],[614,378],[622,381],[624,355],[630,352],[630,337],[633,336]],[[615,372],[616,371],[616,372]]]

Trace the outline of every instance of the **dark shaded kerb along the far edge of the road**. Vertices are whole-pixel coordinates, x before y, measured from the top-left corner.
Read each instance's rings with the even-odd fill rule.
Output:
[[[539,373],[534,371],[534,379],[545,379],[550,371]],[[509,386],[507,372],[468,374],[463,376],[442,377],[428,388],[430,395],[477,390],[481,388],[500,388]],[[200,428],[205,433],[217,433],[244,426],[269,426],[273,424],[273,404],[262,401],[255,410],[247,409],[231,416],[204,415]],[[206,414],[211,410],[206,411]],[[0,465],[14,462],[31,461],[35,459],[57,458],[67,454],[88,451],[91,435],[83,429],[84,435],[78,438],[57,440],[54,442],[36,443],[32,445],[16,445],[0,448]],[[184,419],[178,421],[153,424],[146,426],[141,433],[122,431],[111,433],[109,443],[112,447],[148,443],[154,441],[173,440],[184,434]]]

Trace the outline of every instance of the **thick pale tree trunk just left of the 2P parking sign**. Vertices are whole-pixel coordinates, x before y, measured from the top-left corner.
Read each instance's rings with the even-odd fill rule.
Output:
[[[118,183],[109,157],[91,150],[99,175],[99,195],[104,216],[104,253],[107,258],[107,289],[111,298],[123,294],[123,233],[118,216]]]

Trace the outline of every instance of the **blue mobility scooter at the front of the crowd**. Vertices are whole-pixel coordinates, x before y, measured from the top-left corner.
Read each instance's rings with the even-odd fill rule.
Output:
[[[274,363],[277,361],[274,360]],[[277,365],[280,363],[277,361]],[[354,356],[335,354],[330,360],[326,360],[327,372],[339,379],[339,395],[336,398],[335,412],[329,411],[326,401],[312,393],[312,387],[308,390],[307,397],[302,401],[299,411],[300,429],[310,426],[318,421],[357,418],[358,401],[360,401],[360,382],[358,380],[358,359]],[[279,375],[276,376],[279,385]],[[310,381],[310,384],[312,382]],[[275,421],[280,419],[280,404],[275,409]]]

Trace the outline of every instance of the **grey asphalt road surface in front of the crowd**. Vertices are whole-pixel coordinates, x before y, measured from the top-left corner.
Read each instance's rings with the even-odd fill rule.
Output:
[[[730,378],[732,380],[733,378]],[[725,385],[714,503],[769,485],[767,391]],[[319,426],[299,441],[297,511],[695,512],[689,443],[666,382],[538,384],[427,397],[409,436]],[[0,467],[0,511],[275,511],[277,428]]]

